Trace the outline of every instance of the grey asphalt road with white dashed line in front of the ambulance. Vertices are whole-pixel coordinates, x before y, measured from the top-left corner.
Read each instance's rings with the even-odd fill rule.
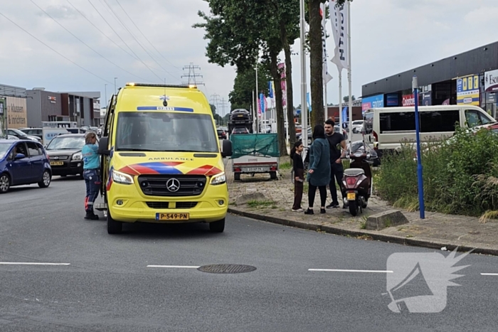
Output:
[[[47,189],[12,188],[0,196],[0,331],[496,331],[498,326],[498,275],[482,275],[498,273],[498,257],[468,255],[458,262],[469,266],[455,272],[464,277],[454,280],[460,287],[447,287],[443,311],[394,313],[388,309],[386,280],[399,275],[388,271],[410,259],[393,263],[388,257],[433,250],[235,216],[222,234],[211,234],[202,224],[142,224],[107,235],[104,221],[83,219],[83,186],[75,178],[55,178]],[[449,253],[433,255],[439,254],[444,260]],[[430,262],[433,269],[444,265],[434,257]],[[211,274],[195,268],[206,264],[256,269]],[[420,264],[427,284],[443,278],[426,266]],[[403,289],[427,293],[415,279]]]

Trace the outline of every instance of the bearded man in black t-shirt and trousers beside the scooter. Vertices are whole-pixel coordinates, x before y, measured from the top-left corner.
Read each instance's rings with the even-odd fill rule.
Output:
[[[330,148],[330,194],[332,195],[332,203],[327,205],[327,208],[339,208],[339,200],[337,200],[337,189],[335,182],[342,188],[342,176],[344,168],[342,167],[341,157],[346,156],[346,140],[344,136],[338,132],[334,132],[334,120],[327,119],[325,122],[325,134],[329,141]],[[342,190],[341,190],[342,192]]]

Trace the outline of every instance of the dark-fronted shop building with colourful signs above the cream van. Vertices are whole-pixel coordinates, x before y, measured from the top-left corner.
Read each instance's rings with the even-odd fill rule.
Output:
[[[414,75],[419,105],[477,105],[498,118],[498,42],[363,85],[362,111],[414,106]]]

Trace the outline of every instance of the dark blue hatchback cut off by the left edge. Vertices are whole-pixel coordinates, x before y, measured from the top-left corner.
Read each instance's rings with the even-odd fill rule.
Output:
[[[11,186],[38,183],[50,186],[52,168],[43,146],[37,141],[0,139],[0,193]]]

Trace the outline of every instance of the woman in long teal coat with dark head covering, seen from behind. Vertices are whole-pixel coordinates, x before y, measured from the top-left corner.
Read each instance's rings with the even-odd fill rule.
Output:
[[[320,192],[320,213],[325,213],[325,202],[327,200],[327,185],[330,182],[330,148],[329,141],[325,138],[325,129],[322,124],[313,128],[313,144],[309,148],[309,182],[308,209],[304,211],[307,215],[313,213],[314,196],[317,188]]]

